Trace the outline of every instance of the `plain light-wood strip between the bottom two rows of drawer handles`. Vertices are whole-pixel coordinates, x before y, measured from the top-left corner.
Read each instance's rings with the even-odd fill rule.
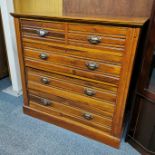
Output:
[[[60,98],[64,98],[65,100],[69,100],[71,101],[71,103],[69,102],[70,104],[74,105],[77,103],[85,108],[102,111],[103,114],[105,113],[107,116],[112,116],[114,113],[115,104],[112,104],[109,101],[102,101],[88,96],[82,96],[78,93],[67,91],[66,89],[62,88],[60,89],[58,87],[52,87],[50,85],[45,85],[37,81],[28,80],[27,86],[28,89],[48,93]]]

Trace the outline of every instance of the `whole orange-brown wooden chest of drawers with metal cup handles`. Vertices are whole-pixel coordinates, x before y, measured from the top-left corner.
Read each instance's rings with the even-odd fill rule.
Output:
[[[119,147],[146,19],[12,15],[24,113]]]

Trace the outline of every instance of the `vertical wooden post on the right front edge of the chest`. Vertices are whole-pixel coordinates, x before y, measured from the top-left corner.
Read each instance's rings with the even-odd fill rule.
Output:
[[[126,99],[134,65],[135,53],[138,45],[140,28],[129,28],[126,41],[126,51],[122,62],[119,88],[117,92],[117,106],[113,117],[113,135],[120,137],[122,134],[123,116],[125,112]]]

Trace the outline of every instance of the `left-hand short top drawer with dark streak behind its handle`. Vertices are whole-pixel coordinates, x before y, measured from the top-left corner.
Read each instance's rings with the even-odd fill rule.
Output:
[[[61,22],[21,20],[22,37],[44,42],[65,43],[65,24]]]

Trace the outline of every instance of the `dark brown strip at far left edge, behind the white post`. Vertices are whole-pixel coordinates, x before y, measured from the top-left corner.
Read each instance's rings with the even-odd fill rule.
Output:
[[[7,55],[0,12],[0,79],[8,75]]]

